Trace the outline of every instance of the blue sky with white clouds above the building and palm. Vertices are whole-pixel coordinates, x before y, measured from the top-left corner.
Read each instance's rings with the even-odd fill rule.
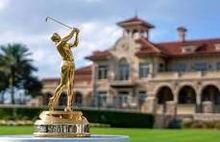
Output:
[[[117,22],[134,17],[155,25],[152,42],[177,40],[176,28],[188,29],[186,39],[220,38],[219,0],[0,0],[0,44],[22,43],[32,53],[42,78],[59,77],[60,57],[49,37],[69,30],[47,16],[80,29],[74,49],[76,67],[91,64],[85,57],[111,48],[122,35]]]

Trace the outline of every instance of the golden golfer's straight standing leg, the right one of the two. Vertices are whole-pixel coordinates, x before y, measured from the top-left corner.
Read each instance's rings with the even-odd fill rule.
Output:
[[[74,84],[74,65],[71,63],[68,72],[68,82],[67,82],[67,107],[65,111],[72,111],[73,98],[73,84]]]

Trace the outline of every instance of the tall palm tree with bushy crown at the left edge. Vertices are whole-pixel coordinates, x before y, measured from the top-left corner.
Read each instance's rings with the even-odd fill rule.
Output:
[[[11,89],[12,104],[15,104],[14,88],[21,88],[24,78],[36,71],[31,64],[30,55],[26,46],[22,44],[0,46],[0,71],[8,78],[7,88]]]

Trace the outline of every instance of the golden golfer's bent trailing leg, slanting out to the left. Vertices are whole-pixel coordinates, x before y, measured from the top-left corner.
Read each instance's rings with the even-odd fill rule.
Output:
[[[61,80],[60,84],[57,86],[54,95],[50,98],[48,107],[49,110],[54,110],[55,106],[58,103],[61,93],[63,92],[64,87],[66,86],[68,80],[68,66],[63,65],[61,68]]]

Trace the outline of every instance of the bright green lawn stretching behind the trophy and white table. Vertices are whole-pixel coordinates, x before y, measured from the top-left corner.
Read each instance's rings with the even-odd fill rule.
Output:
[[[128,135],[131,142],[218,142],[218,130],[91,128],[92,134]],[[32,127],[0,126],[0,134],[32,134]]]

